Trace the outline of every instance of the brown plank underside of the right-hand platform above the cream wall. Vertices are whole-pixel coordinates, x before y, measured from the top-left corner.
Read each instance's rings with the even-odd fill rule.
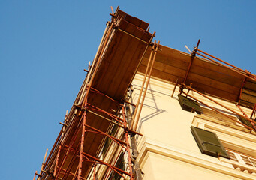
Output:
[[[167,46],[159,48],[161,51],[156,55],[152,76],[172,83],[176,83],[176,80],[179,84],[183,83],[191,62],[191,54]],[[150,49],[147,50],[140,64],[139,72],[145,73],[149,54]],[[227,68],[204,58],[193,59],[185,80],[188,86],[190,83],[199,92],[227,101],[240,101],[242,106],[253,108],[256,103],[256,80],[245,78],[243,72],[237,72],[233,68]]]

